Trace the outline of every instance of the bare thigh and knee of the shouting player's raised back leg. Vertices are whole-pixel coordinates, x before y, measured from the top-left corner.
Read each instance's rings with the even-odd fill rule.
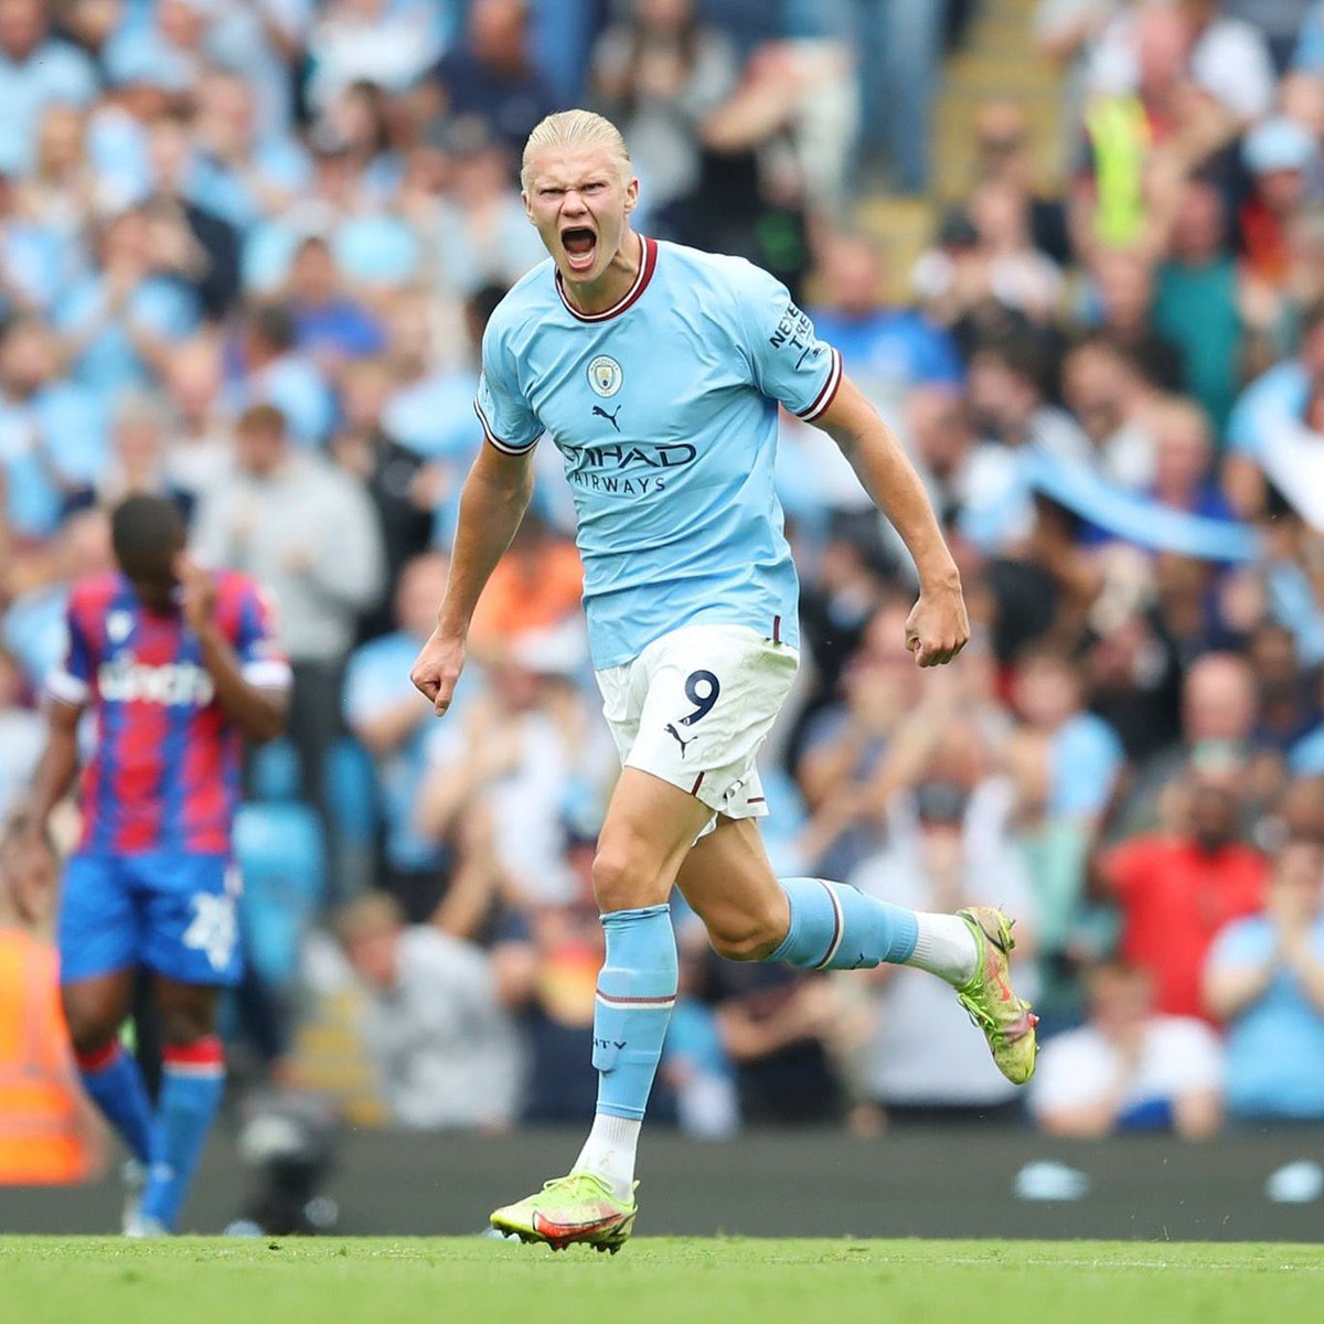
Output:
[[[677,886],[723,956],[765,956],[785,936],[786,894],[752,818],[720,817],[685,857]]]

